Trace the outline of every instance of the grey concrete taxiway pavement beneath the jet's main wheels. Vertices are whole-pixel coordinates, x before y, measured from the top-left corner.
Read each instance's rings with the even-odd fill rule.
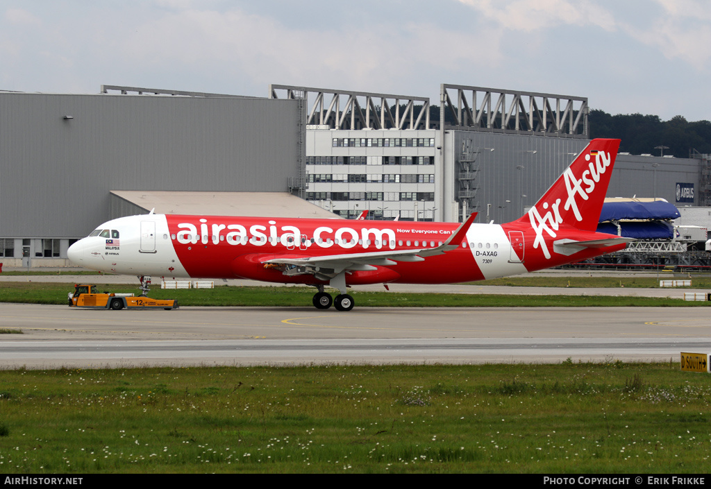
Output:
[[[520,289],[520,288],[517,288]],[[711,351],[707,308],[207,308],[0,304],[0,367],[669,361]]]

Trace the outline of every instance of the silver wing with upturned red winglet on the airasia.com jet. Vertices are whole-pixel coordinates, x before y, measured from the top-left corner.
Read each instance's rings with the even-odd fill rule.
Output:
[[[272,258],[262,262],[264,267],[277,268],[284,275],[313,274],[316,278],[326,280],[343,271],[376,270],[375,266],[387,267],[397,262],[422,262],[427,257],[444,254],[461,245],[466,237],[466,230],[474,222],[476,213],[469,216],[452,233],[447,241],[434,248],[387,250],[363,253],[329,254],[319,257],[294,258],[293,255],[283,258]]]

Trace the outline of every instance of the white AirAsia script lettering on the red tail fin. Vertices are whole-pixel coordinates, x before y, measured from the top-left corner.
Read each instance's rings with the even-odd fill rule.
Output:
[[[595,161],[591,161],[592,156],[595,157]],[[562,176],[562,181],[565,183],[565,190],[567,191],[567,200],[565,200],[565,205],[563,205],[564,211],[571,211],[572,215],[575,217],[577,222],[582,221],[582,215],[578,208],[577,197],[582,198],[582,200],[588,200],[588,196],[591,195],[595,190],[595,185],[599,183],[600,176],[605,173],[607,168],[610,166],[612,158],[609,153],[604,151],[593,150],[590,154],[585,155],[585,161],[589,162],[588,167],[582,172],[581,178],[578,180],[577,176],[573,174],[572,167],[574,164],[568,167]],[[559,179],[555,183],[555,188],[560,186],[561,180]],[[585,186],[583,188],[582,184]],[[533,241],[533,247],[542,249],[543,256],[550,259],[550,251],[548,251],[548,246],[545,242],[545,237],[543,232],[546,232],[548,236],[555,238],[557,237],[558,227],[563,222],[563,217],[560,213],[560,202],[561,199],[557,198],[555,203],[538,203],[533,208],[528,211],[528,217],[530,218],[531,227],[535,231],[535,240]],[[538,207],[542,207],[545,214],[541,216],[541,211]],[[570,212],[565,214],[570,216]]]

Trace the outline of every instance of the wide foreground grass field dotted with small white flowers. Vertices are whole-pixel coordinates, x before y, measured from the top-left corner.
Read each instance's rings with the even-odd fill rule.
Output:
[[[0,371],[3,473],[707,473],[665,364]]]

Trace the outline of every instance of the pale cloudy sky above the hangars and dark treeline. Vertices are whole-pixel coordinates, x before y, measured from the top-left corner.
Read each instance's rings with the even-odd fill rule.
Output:
[[[449,83],[696,121],[710,82],[708,0],[0,0],[0,90],[276,83],[439,104]]]

